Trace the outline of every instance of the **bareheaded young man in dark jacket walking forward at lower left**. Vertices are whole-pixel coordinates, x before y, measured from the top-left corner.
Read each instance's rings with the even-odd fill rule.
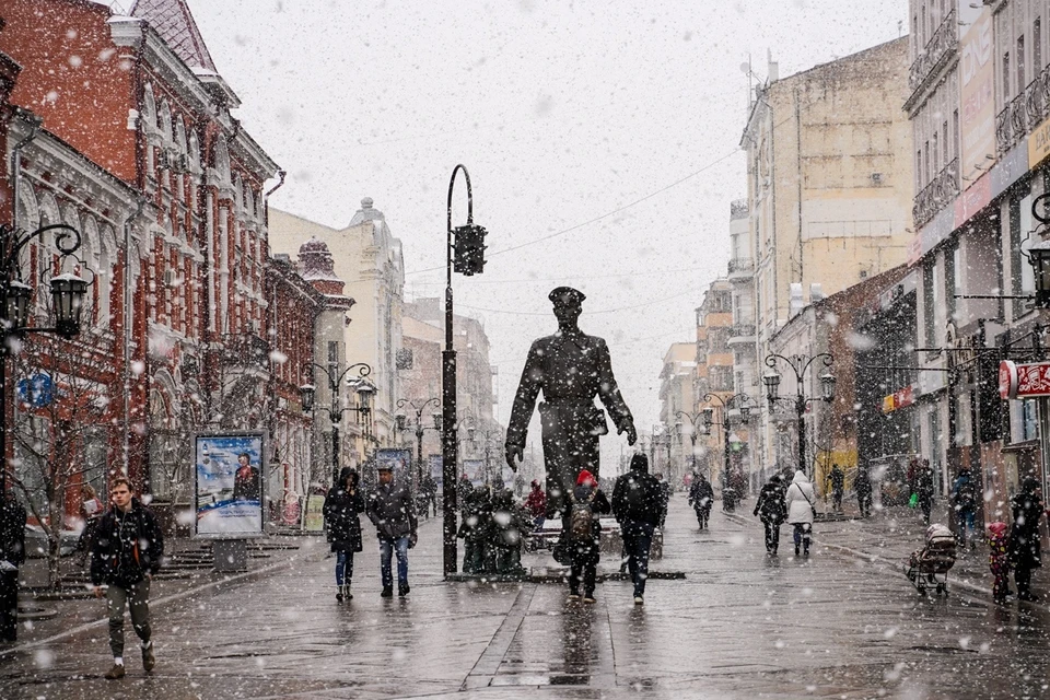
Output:
[[[156,660],[150,629],[150,582],[161,568],[164,536],[156,518],[131,494],[124,477],[109,485],[113,508],[103,515],[91,557],[91,583],[102,597],[106,584],[109,608],[109,649],[113,668],[106,678],[124,678],[124,608],[131,612],[131,627],[142,640],[142,667],[153,670]]]

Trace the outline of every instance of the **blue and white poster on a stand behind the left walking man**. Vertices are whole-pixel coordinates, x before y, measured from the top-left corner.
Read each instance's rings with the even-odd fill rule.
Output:
[[[200,434],[195,454],[196,536],[261,537],[262,433]]]

